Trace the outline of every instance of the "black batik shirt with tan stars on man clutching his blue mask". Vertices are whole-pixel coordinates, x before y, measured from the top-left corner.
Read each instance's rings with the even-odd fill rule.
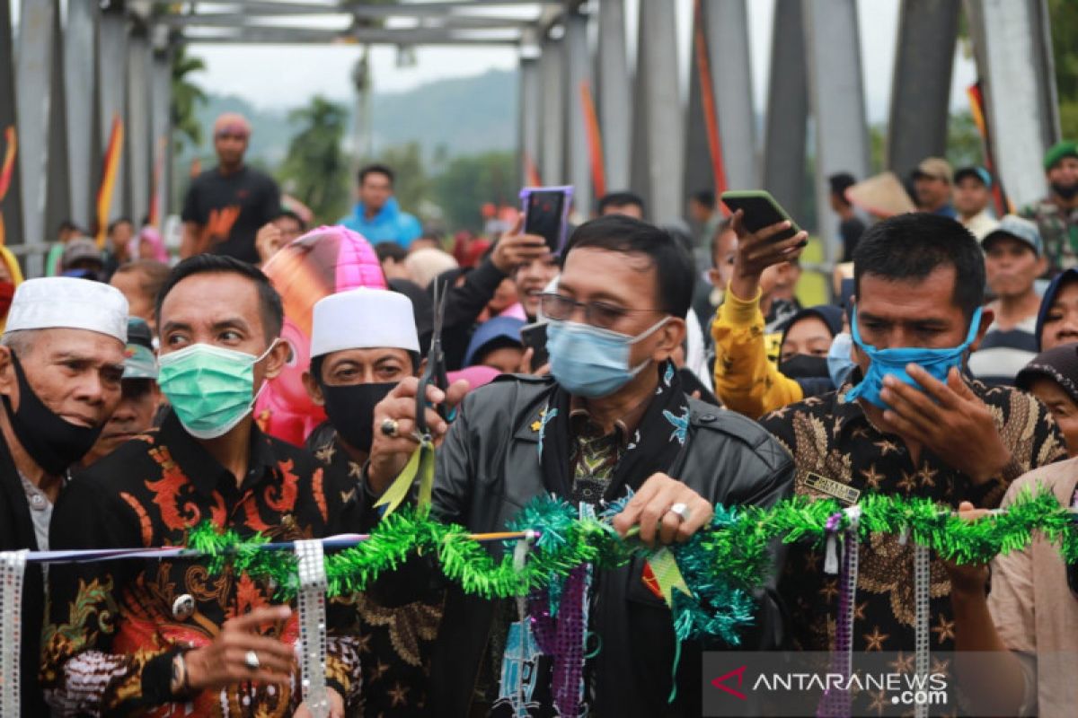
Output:
[[[760,420],[793,455],[794,491],[799,495],[853,504],[874,493],[928,497],[952,507],[969,501],[992,508],[998,506],[1011,480],[1066,457],[1063,437],[1042,404],[1014,389],[989,389],[971,381],[973,393],[991,409],[1013,457],[1004,476],[976,487],[968,476],[943,464],[927,449],[922,449],[914,464],[902,439],[876,430],[856,402],[844,402],[851,386],[791,404]],[[976,450],[970,447],[970,451]],[[913,651],[913,586],[912,541],[903,546],[897,536],[883,534],[861,541],[855,651]],[[824,551],[802,544],[790,546],[779,592],[790,611],[796,646],[802,650],[833,648],[839,582],[837,576],[824,573]],[[934,557],[929,589],[932,650],[954,648],[950,592],[946,569]]]

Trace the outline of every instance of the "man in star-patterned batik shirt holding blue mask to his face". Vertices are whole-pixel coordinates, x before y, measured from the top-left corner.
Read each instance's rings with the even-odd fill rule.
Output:
[[[761,420],[794,456],[798,494],[847,505],[885,494],[992,508],[1011,480],[1065,456],[1041,404],[1017,390],[987,389],[964,370],[992,323],[991,310],[981,308],[984,257],[965,228],[926,213],[890,217],[861,237],[854,270],[853,389]],[[913,549],[890,535],[861,544],[853,650],[915,649]],[[796,545],[786,566],[780,592],[796,645],[834,649],[839,591],[823,571],[823,552]],[[953,649],[940,561],[930,575],[932,649]]]

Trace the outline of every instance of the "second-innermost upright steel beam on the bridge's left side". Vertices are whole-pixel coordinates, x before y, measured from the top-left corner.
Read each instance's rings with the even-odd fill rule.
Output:
[[[127,40],[127,144],[130,217],[140,223],[150,211],[150,40],[135,26]]]

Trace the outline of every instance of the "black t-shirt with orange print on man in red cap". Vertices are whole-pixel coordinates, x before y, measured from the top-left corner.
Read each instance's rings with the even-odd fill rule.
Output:
[[[259,261],[254,236],[278,214],[280,191],[273,179],[250,167],[232,174],[221,174],[215,167],[191,182],[181,219],[202,226],[199,252],[254,264]]]

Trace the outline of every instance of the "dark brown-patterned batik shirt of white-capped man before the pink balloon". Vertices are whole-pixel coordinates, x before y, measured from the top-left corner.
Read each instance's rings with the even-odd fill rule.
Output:
[[[350,459],[336,432],[330,431],[318,444],[314,447],[315,459],[327,480],[358,487],[363,466]],[[361,531],[362,526],[349,529]],[[421,714],[427,699],[430,646],[442,620],[441,592],[393,608],[386,608],[367,593],[342,601],[354,608],[359,637],[363,707],[356,715],[403,718]]]

